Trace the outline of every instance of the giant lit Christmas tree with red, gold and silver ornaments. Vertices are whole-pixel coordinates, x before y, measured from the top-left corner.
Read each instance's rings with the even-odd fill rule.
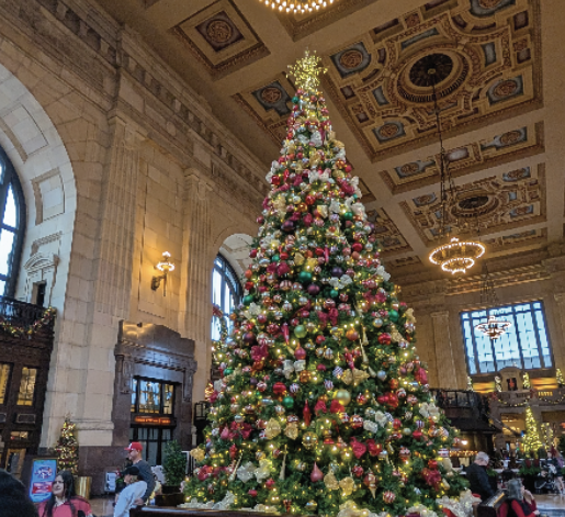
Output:
[[[223,378],[188,506],[432,516],[465,486],[449,461],[459,439],[429,394],[320,71],[307,53],[292,68],[298,90],[244,305],[215,350]]]

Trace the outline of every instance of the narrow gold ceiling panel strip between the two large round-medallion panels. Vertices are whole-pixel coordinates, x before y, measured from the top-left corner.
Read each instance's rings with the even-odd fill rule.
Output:
[[[536,122],[507,131],[499,135],[448,149],[450,172],[453,178],[477,170],[516,161],[545,150],[544,124]],[[380,172],[393,194],[409,192],[438,183],[439,154],[416,161],[398,164],[393,170]]]

